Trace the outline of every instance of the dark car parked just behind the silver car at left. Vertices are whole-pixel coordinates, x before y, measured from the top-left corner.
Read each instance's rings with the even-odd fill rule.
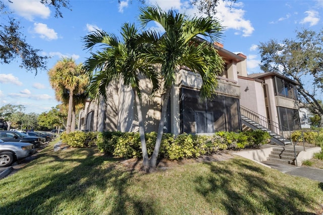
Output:
[[[38,147],[42,141],[40,137],[32,137],[18,131],[0,131],[0,140],[5,142],[29,142]]]

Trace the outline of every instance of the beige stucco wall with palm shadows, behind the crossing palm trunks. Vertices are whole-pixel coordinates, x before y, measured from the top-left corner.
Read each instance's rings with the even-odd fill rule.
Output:
[[[160,119],[160,96],[151,96],[151,83],[140,80],[141,111],[145,132],[157,131]],[[137,108],[131,87],[120,82],[111,84],[107,89],[106,130],[136,132],[139,130]]]

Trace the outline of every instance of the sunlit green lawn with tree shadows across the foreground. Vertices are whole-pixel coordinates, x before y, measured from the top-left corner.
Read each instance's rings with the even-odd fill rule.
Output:
[[[235,157],[153,174],[128,171],[95,148],[54,152],[0,180],[0,214],[322,213],[323,183]]]

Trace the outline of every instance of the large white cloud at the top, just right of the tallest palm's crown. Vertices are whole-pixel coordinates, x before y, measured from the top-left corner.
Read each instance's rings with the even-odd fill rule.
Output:
[[[241,34],[242,36],[251,36],[254,28],[250,20],[244,18],[245,11],[242,10],[243,3],[232,3],[230,1],[219,1],[217,8],[217,17],[223,20],[223,26],[226,29],[237,30],[235,34]]]

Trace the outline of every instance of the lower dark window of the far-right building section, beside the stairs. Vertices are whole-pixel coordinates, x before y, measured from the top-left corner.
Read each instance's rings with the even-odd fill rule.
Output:
[[[277,107],[277,111],[282,131],[295,131],[300,129],[298,110]]]

